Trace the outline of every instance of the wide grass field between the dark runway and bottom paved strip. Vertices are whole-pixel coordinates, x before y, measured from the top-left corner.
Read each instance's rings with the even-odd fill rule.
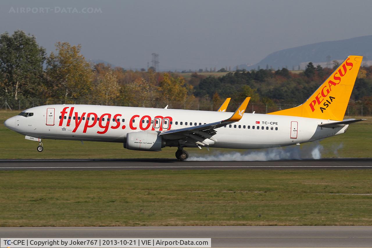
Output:
[[[371,225],[371,170],[1,171],[0,226]],[[341,194],[339,194],[341,193]]]

